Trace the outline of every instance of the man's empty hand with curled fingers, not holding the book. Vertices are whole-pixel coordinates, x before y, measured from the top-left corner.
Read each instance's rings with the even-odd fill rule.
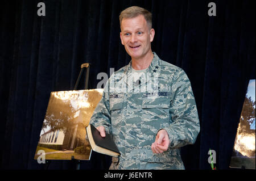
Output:
[[[161,129],[158,134],[156,134],[155,142],[151,145],[151,150],[153,153],[163,153],[166,151],[170,145],[170,140],[166,130]]]

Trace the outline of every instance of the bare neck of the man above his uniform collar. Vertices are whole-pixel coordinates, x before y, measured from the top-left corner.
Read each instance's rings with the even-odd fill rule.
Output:
[[[133,66],[133,69],[135,70],[147,69],[148,66],[150,66],[153,58],[154,58],[154,54],[152,53],[152,51],[150,51],[142,58],[138,58],[138,59],[132,58],[131,66]]]

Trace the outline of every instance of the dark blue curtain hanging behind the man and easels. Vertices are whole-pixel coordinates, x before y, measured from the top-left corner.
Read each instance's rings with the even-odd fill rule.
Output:
[[[39,2],[46,16],[38,16]],[[209,16],[209,2],[216,16]],[[34,160],[51,91],[72,90],[80,65],[90,63],[89,89],[97,74],[130,61],[119,40],[119,13],[141,6],[153,14],[152,50],[182,68],[195,95],[201,131],[181,149],[186,169],[229,169],[249,79],[255,79],[254,1],[1,1],[1,169],[43,169]],[[79,89],[83,89],[80,85]],[[104,163],[101,160],[104,159]],[[94,153],[81,169],[108,169]],[[71,169],[52,161],[49,169]]]

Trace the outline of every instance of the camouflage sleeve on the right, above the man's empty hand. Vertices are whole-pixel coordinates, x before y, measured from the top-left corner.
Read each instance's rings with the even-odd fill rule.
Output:
[[[172,82],[170,116],[171,124],[166,129],[170,147],[179,148],[194,144],[200,131],[199,117],[191,83],[181,69],[176,71]]]

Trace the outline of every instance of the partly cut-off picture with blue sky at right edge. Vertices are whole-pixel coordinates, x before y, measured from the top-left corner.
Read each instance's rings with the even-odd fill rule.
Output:
[[[238,124],[230,167],[255,169],[255,79],[251,79]]]

